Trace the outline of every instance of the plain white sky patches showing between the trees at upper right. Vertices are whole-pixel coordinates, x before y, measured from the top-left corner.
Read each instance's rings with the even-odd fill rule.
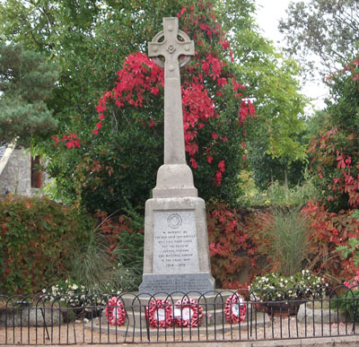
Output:
[[[285,39],[278,30],[278,23],[281,18],[286,17],[285,10],[290,2],[297,2],[298,0],[256,0],[258,5],[257,22],[262,34],[267,39],[271,39],[276,47],[285,46]],[[302,0],[308,3],[310,0]],[[306,96],[313,98],[312,104],[314,108],[324,108],[324,99],[328,93],[325,85],[322,82],[307,83],[302,87],[302,92]],[[306,111],[312,113],[310,108]]]

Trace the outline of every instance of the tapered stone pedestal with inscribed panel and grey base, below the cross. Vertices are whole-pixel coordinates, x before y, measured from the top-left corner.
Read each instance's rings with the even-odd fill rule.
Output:
[[[214,291],[203,199],[147,200],[144,245],[141,293]]]

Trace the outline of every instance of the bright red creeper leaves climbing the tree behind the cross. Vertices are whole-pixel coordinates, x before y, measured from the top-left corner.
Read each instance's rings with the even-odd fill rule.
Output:
[[[181,18],[182,30],[191,32],[192,38],[196,41],[196,47],[200,51],[199,53],[196,51],[191,64],[187,65],[181,86],[185,150],[191,157],[190,162],[194,169],[197,168],[198,160],[195,160],[194,156],[199,155],[198,132],[206,127],[209,119],[219,117],[215,112],[214,95],[221,96],[223,88],[228,88],[227,85],[232,82],[233,95],[238,100],[238,126],[242,126],[246,118],[255,115],[255,109],[250,100],[242,100],[241,92],[239,92],[245,87],[235,81],[230,69],[225,69],[228,63],[220,56],[223,56],[223,51],[230,54],[230,45],[223,37],[223,30],[215,18],[214,11],[210,8],[211,6],[209,8],[208,6],[208,3],[205,6],[200,1],[197,7],[194,5],[188,8],[183,7],[177,14]],[[200,8],[206,8],[208,13],[205,15],[203,11],[198,11]],[[209,47],[206,46],[208,42],[211,42]],[[215,42],[218,48],[212,46]],[[122,69],[117,74],[118,80],[115,87],[112,91],[104,91],[96,106],[100,121],[92,128],[92,133],[95,135],[102,131],[103,122],[107,121],[109,101],[115,103],[118,108],[125,106],[143,108],[145,98],[162,95],[163,69],[143,53],[137,52],[127,56]],[[207,89],[209,84],[214,90]],[[148,126],[153,127],[155,121],[149,119],[149,122]],[[219,136],[219,140],[223,143],[228,142],[228,137]],[[75,147],[76,144],[70,141],[68,147]],[[211,165],[213,159],[212,155],[208,156],[207,164]],[[215,165],[218,162],[223,162],[223,158],[219,160],[216,158]],[[224,170],[223,165],[216,171],[215,177],[212,178],[215,185],[221,185]]]

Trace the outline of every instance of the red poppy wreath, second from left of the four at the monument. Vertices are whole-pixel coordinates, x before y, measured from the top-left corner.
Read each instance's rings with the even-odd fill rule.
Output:
[[[145,308],[145,317],[152,327],[168,327],[173,324],[172,306],[167,300],[150,301]]]

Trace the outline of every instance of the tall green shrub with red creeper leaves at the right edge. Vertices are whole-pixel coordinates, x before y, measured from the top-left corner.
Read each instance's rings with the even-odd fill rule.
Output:
[[[329,76],[328,86],[328,123],[309,152],[320,202],[338,213],[359,206],[359,56]]]

